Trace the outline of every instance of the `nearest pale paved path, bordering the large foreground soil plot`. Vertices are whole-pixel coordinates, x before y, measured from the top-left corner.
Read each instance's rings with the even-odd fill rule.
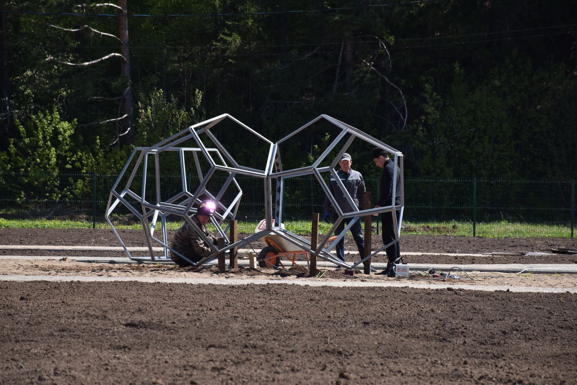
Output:
[[[301,285],[301,286],[332,286],[332,287],[410,287],[414,289],[463,289],[463,290],[482,290],[482,291],[514,291],[516,293],[577,293],[575,288],[563,287],[520,287],[520,286],[503,286],[503,285],[457,285],[447,283],[413,283],[413,282],[327,282],[327,281],[294,281],[294,280],[277,280],[277,279],[214,279],[214,278],[169,278],[169,277],[119,277],[119,276],[54,276],[54,275],[0,275],[0,281],[12,282],[32,282],[32,281],[50,281],[50,282],[162,282],[162,283],[190,283],[192,285],[211,284],[211,285],[266,285],[267,283],[282,283],[284,285]]]

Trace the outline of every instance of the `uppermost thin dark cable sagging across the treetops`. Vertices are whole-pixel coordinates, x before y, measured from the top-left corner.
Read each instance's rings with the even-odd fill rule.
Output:
[[[447,0],[415,0],[407,2],[396,2],[390,4],[374,4],[374,5],[359,5],[354,7],[340,7],[340,8],[323,8],[323,9],[300,9],[287,11],[272,11],[272,12],[239,12],[239,13],[190,13],[190,14],[109,14],[109,13],[73,13],[73,12],[35,12],[35,11],[13,11],[0,10],[3,13],[20,13],[32,14],[41,16],[94,16],[94,17],[226,17],[226,16],[268,16],[275,14],[295,14],[295,13],[310,13],[310,12],[335,12],[341,10],[354,9],[369,9],[369,8],[384,8],[396,7],[399,5],[414,5],[421,3],[438,3]]]

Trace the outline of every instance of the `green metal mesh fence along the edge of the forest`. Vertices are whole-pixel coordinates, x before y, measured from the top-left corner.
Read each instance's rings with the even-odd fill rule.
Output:
[[[118,175],[111,174],[42,174],[0,173],[0,208],[29,210],[37,207],[66,207],[92,215],[93,223],[104,219],[111,186]],[[152,181],[154,175],[148,175]],[[213,177],[210,190],[218,190],[226,178]],[[259,178],[237,176],[243,191],[237,218],[264,218],[264,184]],[[141,193],[141,175],[136,175],[131,189]],[[188,189],[198,186],[198,177],[186,176]],[[284,187],[283,220],[309,219],[313,212],[323,212],[324,192],[314,177],[288,178]],[[373,199],[379,199],[379,178],[366,179],[367,190]],[[120,186],[126,184],[121,181]],[[161,175],[161,200],[176,195],[182,190],[180,175]],[[274,187],[274,184],[273,184]],[[238,189],[231,185],[222,197],[230,203]],[[147,184],[147,200],[156,201],[154,183]],[[521,236],[546,236],[538,225],[559,227],[564,237],[574,236],[575,224],[575,180],[482,180],[405,178],[404,222],[455,222],[468,223],[471,236],[482,235],[489,227],[507,223],[523,223],[525,233]],[[129,214],[121,206],[115,214]],[[499,231],[498,228],[497,230]]]

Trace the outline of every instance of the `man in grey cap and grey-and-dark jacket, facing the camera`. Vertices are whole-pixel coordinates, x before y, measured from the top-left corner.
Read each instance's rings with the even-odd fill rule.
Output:
[[[353,165],[353,160],[351,159],[351,156],[345,152],[340,157],[340,170],[336,171],[336,175],[340,178],[340,181],[343,182],[344,187],[347,189],[347,192],[353,199],[354,203],[357,204],[358,210],[362,210],[365,205],[365,180],[363,179],[361,173],[351,169],[351,165]],[[329,180],[328,188],[332,196],[335,197],[336,203],[339,205],[341,211],[357,211],[357,208],[351,207],[349,201],[347,201],[346,197],[344,197],[342,190],[332,175]],[[336,214],[334,207],[332,207],[328,196],[325,196],[324,220],[327,223],[329,223],[329,220],[331,219],[331,212],[332,222],[334,223],[339,218],[339,216]],[[343,231],[345,222],[348,225],[352,219],[353,218],[347,218],[342,220],[342,222],[339,223],[339,226],[336,227],[335,236],[338,236],[341,231]],[[365,238],[362,236],[361,221],[357,220],[350,230],[351,234],[353,234],[354,241],[357,243],[357,248],[362,259],[362,257],[365,255]],[[339,241],[338,244],[336,244],[335,250],[336,256],[344,262],[344,237]],[[340,267],[338,267],[338,269],[339,268]]]

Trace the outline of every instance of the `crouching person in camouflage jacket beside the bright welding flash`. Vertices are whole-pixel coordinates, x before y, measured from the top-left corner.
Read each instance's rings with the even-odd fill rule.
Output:
[[[208,233],[207,223],[211,219],[211,216],[214,215],[215,210],[216,204],[213,201],[204,200],[201,202],[200,206],[198,206],[196,214],[190,217],[212,244],[216,244],[216,239]],[[194,263],[197,263],[204,257],[211,255],[213,252],[210,245],[207,245],[203,238],[198,234],[198,231],[187,221],[182,223],[180,229],[178,229],[176,234],[174,234],[171,247]],[[193,266],[193,264],[177,255],[177,253],[172,250],[170,251],[170,259],[180,267]]]

